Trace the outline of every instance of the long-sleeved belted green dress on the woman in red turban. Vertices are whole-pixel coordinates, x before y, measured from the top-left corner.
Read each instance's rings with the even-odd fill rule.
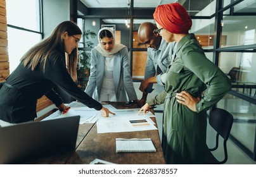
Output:
[[[229,78],[206,58],[195,35],[183,37],[167,73],[165,90],[148,102],[150,106],[164,103],[162,146],[167,164],[205,164],[207,110],[230,89]],[[202,96],[196,112],[176,101],[176,93],[183,90]]]

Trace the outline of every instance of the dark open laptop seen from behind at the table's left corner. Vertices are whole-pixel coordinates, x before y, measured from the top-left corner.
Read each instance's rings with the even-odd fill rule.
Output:
[[[75,150],[80,116],[0,128],[0,164],[20,164]]]

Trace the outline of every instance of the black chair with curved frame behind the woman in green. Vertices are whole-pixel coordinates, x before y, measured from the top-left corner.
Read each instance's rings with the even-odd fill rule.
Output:
[[[207,154],[207,164],[224,164],[227,161],[227,139],[233,125],[233,115],[221,108],[214,108],[210,113],[209,124],[217,131],[214,148],[209,148]],[[219,135],[223,138],[224,160],[219,161],[214,157],[212,151],[219,147]]]

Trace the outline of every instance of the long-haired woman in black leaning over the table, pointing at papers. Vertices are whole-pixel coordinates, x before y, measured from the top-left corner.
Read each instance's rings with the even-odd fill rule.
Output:
[[[80,28],[74,22],[63,21],[48,38],[22,56],[20,64],[1,84],[1,126],[33,121],[37,117],[37,99],[42,95],[53,101],[60,111],[67,111],[69,107],[63,104],[53,90],[55,85],[86,106],[101,111],[103,116],[113,114],[80,90],[75,83],[77,45],[81,35]]]

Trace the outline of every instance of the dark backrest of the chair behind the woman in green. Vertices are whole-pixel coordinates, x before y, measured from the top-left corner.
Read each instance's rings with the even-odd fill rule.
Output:
[[[215,108],[210,113],[209,124],[224,140],[227,140],[233,125],[233,115],[224,109]]]

